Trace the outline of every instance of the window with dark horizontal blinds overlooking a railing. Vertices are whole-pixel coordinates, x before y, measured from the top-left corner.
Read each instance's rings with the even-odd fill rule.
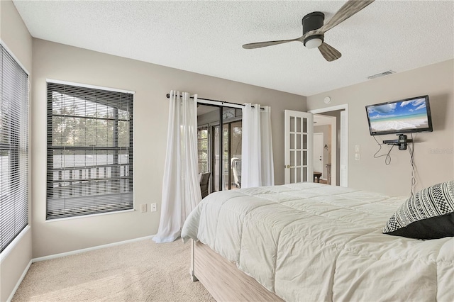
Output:
[[[47,219],[133,208],[133,94],[48,82]]]

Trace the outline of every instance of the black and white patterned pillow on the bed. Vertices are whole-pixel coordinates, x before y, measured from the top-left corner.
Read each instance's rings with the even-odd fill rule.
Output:
[[[383,233],[416,239],[454,236],[454,180],[408,198],[389,218]]]

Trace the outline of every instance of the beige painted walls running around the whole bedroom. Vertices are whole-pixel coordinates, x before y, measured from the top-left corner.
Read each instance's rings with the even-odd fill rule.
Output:
[[[373,159],[377,150],[369,135],[365,105],[428,94],[433,113],[433,133],[416,135],[415,162],[417,187],[453,179],[453,60],[392,74],[307,98],[263,89],[178,69],[105,55],[77,47],[31,38],[11,1],[0,1],[0,38],[32,72],[31,101],[31,225],[11,256],[1,262],[1,293],[4,301],[31,257],[79,250],[110,242],[153,235],[159,223],[162,173],[165,161],[170,89],[189,91],[200,97],[238,104],[260,103],[272,107],[273,152],[276,184],[284,182],[283,110],[306,111],[324,106],[349,104],[349,186],[358,189],[406,195],[410,188],[409,153],[392,150],[392,163]],[[32,57],[33,44],[33,57]],[[33,59],[33,60],[32,60]],[[32,65],[33,62],[33,65]],[[140,203],[158,204],[154,213],[114,213],[103,216],[45,221],[46,99],[45,79],[58,79],[135,91],[135,208]],[[393,139],[387,135],[383,139]],[[354,146],[361,145],[361,160],[354,160]],[[386,149],[387,146],[384,146]],[[33,255],[32,255],[33,238]],[[6,275],[8,277],[6,277]]]

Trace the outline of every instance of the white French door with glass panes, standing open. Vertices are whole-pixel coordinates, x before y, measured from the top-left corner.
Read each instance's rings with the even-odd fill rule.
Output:
[[[284,111],[284,184],[314,181],[311,113]]]

